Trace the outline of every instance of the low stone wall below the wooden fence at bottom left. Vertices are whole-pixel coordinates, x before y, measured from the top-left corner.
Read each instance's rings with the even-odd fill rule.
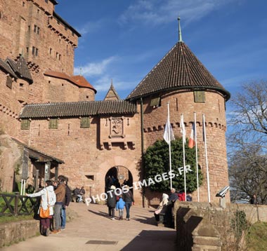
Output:
[[[36,236],[39,233],[39,221],[35,219],[22,222],[0,224],[0,248],[15,242]]]

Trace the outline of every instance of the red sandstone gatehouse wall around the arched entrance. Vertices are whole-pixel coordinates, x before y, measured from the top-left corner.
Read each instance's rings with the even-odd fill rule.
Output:
[[[83,185],[86,194],[96,196],[105,190],[105,175],[117,165],[128,168],[133,182],[139,179],[141,160],[140,115],[129,118],[135,126],[126,135],[135,135],[135,149],[124,149],[123,144],[112,144],[112,149],[100,150],[98,132],[99,118],[91,120],[90,128],[80,128],[79,118],[60,119],[58,129],[48,129],[48,120],[32,120],[30,130],[20,130],[20,139],[29,142],[31,147],[65,161],[59,173],[70,178],[70,186]],[[128,131],[127,131],[128,130]],[[29,141],[28,141],[29,139]],[[88,179],[86,175],[93,175]],[[141,205],[141,191],[133,191],[136,202]]]

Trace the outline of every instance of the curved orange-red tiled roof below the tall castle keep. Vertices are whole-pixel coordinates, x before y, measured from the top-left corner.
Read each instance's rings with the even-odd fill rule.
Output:
[[[89,83],[86,79],[84,79],[83,76],[77,75],[77,76],[69,76],[63,72],[55,72],[51,69],[48,69],[46,72],[44,72],[44,75],[46,76],[53,76],[58,79],[65,79],[70,81],[71,83],[74,83],[74,85],[84,88],[90,88],[96,93],[96,89],[93,88],[91,83]]]

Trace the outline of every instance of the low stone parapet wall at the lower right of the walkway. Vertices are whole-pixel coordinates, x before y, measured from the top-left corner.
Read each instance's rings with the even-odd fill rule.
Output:
[[[267,222],[266,205],[190,203],[174,205],[177,243],[181,250],[236,250],[244,244],[245,232],[237,238],[236,212],[243,211],[249,224]],[[236,228],[234,229],[234,226]]]

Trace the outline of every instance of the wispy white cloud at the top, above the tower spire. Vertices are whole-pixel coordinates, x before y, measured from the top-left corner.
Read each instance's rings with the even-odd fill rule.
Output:
[[[193,22],[228,2],[230,0],[138,0],[120,15],[119,23],[123,25],[129,22],[142,22],[146,25],[159,25],[173,22],[178,15],[183,23]]]

